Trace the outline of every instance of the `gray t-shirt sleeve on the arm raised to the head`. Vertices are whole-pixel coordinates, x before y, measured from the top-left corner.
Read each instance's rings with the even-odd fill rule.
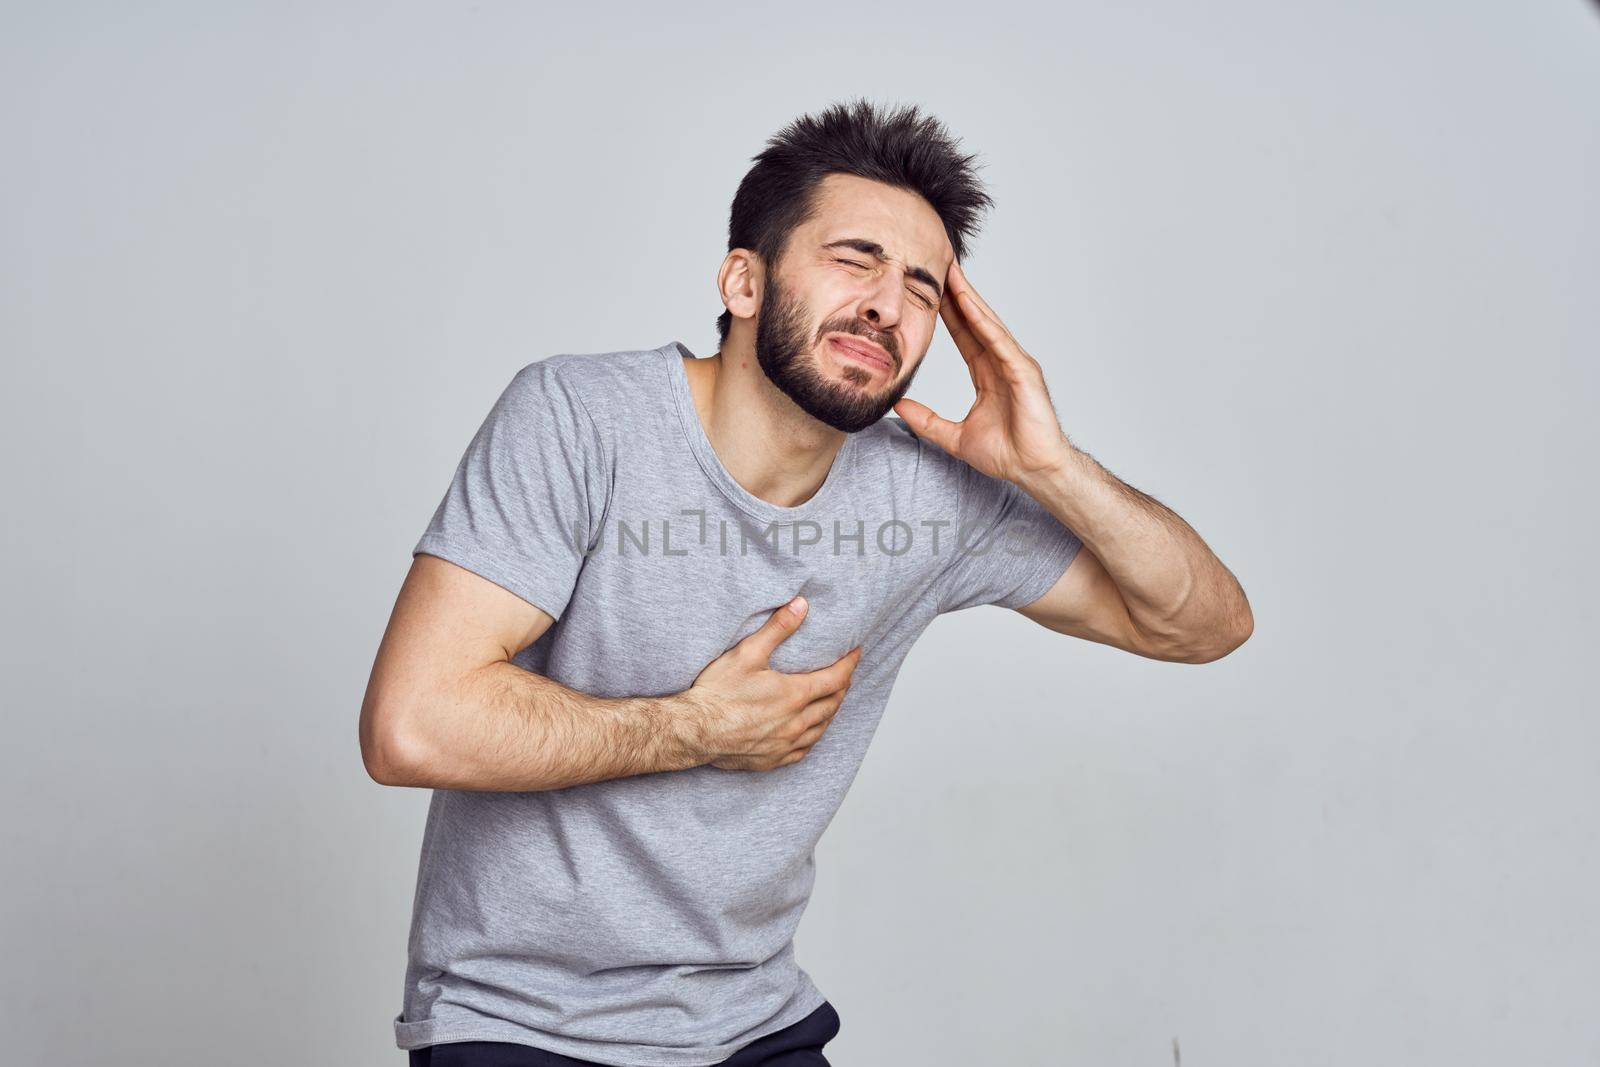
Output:
[[[938,611],[1021,608],[1038,600],[1083,542],[1014,483],[955,466],[962,518],[936,584]]]

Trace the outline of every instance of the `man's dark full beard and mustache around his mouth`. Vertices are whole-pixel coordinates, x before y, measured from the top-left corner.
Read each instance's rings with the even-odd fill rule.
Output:
[[[877,338],[854,318],[827,322],[813,336],[808,330],[811,310],[805,301],[784,288],[778,275],[768,278],[768,293],[755,318],[755,358],[762,371],[802,411],[835,430],[854,434],[888,414],[917,376],[912,370],[906,381],[891,381],[880,392],[869,387],[869,371],[851,366],[845,381],[834,381],[818,365],[816,349],[829,333],[846,333],[882,344],[899,371],[899,352],[891,338]],[[918,363],[920,368],[920,363]]]

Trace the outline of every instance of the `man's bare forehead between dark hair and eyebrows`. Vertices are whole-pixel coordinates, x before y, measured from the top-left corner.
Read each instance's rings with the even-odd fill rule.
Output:
[[[917,194],[856,174],[827,174],[816,210],[800,234],[811,248],[840,237],[861,237],[907,267],[926,267],[942,278],[955,250],[939,213]]]

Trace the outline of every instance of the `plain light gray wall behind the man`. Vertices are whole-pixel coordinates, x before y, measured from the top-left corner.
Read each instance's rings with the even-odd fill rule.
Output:
[[[403,1062],[408,550],[515,368],[715,349],[749,157],[861,93],[1258,630],[934,624],[800,928],[834,1062],[1600,1064],[1592,6],[139,6],[0,34],[5,1059]]]

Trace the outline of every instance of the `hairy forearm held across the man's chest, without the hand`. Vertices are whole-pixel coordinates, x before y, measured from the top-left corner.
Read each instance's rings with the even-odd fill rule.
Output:
[[[696,766],[682,696],[595,697],[510,662],[443,686],[405,729],[403,782],[542,790]]]

